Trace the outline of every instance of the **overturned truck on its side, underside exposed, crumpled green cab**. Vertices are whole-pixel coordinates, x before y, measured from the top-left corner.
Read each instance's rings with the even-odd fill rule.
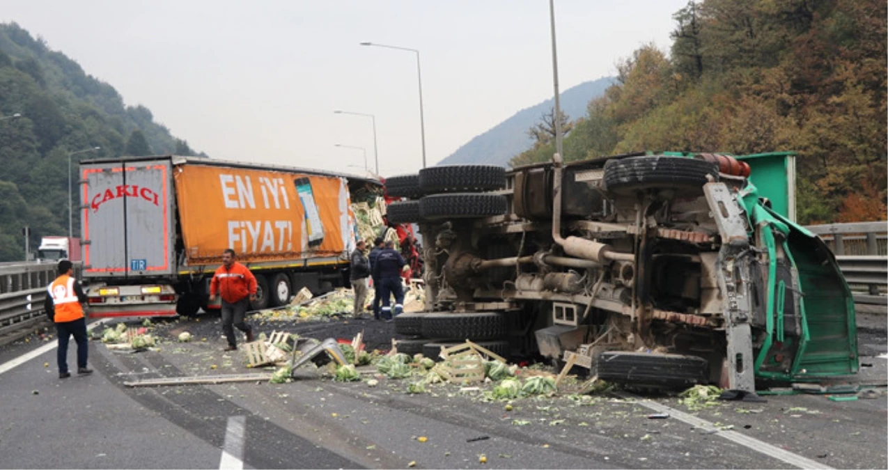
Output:
[[[749,174],[729,155],[635,154],[399,177],[388,218],[418,224],[426,268],[400,350],[472,339],[618,383],[748,392],[856,373],[834,256]]]

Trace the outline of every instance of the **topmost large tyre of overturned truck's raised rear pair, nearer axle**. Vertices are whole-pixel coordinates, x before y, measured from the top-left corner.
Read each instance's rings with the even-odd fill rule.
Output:
[[[490,191],[505,187],[505,168],[496,165],[432,166],[419,171],[425,194]]]

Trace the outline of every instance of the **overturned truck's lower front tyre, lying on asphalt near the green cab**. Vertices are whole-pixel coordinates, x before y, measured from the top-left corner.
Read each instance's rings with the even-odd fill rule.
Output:
[[[596,365],[600,379],[635,386],[686,388],[710,379],[709,362],[695,355],[609,351]]]

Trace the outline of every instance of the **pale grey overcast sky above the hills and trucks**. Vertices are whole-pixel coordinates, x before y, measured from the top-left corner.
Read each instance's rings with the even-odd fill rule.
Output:
[[[551,98],[545,0],[2,0],[16,21],[210,156],[384,175],[428,164]],[[686,0],[556,0],[561,89],[670,44]],[[355,165],[349,166],[349,165]]]

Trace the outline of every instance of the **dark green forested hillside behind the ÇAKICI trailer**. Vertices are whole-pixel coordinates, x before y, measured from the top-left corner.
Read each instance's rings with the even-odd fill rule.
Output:
[[[124,106],[114,87],[65,54],[0,24],[0,261],[24,259],[23,227],[32,245],[67,235],[68,155],[92,147],[100,149],[72,157],[75,168],[80,158],[194,155],[147,108]]]

